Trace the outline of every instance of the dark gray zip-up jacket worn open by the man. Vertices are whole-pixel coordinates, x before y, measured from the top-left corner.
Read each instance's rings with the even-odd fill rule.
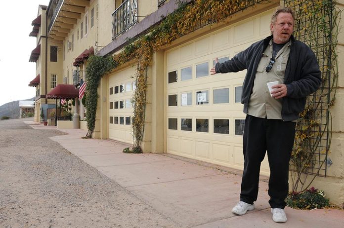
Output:
[[[269,44],[272,35],[253,43],[232,59],[215,65],[216,73],[238,72],[247,69],[244,79],[241,103],[244,113],[248,113],[248,104],[261,55]],[[284,76],[287,96],[282,99],[282,118],[284,121],[296,120],[303,111],[306,97],[315,92],[321,84],[321,72],[313,51],[304,43],[291,37],[290,54]]]

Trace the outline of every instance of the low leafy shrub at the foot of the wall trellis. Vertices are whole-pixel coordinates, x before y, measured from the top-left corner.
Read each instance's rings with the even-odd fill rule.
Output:
[[[325,198],[323,190],[317,190],[314,187],[302,192],[293,192],[287,196],[287,205],[292,208],[314,209],[323,208],[330,205],[329,199]]]

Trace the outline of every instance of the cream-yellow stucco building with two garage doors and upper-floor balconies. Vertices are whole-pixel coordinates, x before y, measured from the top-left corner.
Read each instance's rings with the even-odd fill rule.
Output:
[[[209,70],[216,57],[225,61],[269,36],[271,14],[278,5],[283,5],[283,1],[254,3],[154,53],[148,69],[145,132],[141,144],[144,152],[171,153],[243,169],[245,114],[240,96],[246,72],[210,76]],[[177,7],[177,0],[149,0],[149,3],[146,0],[58,0],[50,1],[47,9],[41,6],[39,15],[42,14],[42,22],[46,23],[47,46],[57,46],[59,61],[46,63],[38,58],[36,75],[41,75],[37,86],[41,97],[36,100],[36,114],[40,110],[38,105],[45,104],[42,94],[49,88],[44,87],[45,81],[51,83],[49,75],[57,75],[57,84],[78,86],[80,79],[86,80],[90,54],[109,56],[121,52],[129,38],[147,33]],[[38,35],[41,30],[45,34],[44,29]],[[339,66],[343,62],[343,38],[341,33],[337,47]],[[45,51],[45,41],[46,38],[38,38],[41,54]],[[129,61],[101,79],[94,138],[132,143],[130,100],[135,90],[136,67],[136,62]],[[339,68],[337,99],[331,109],[332,144],[328,157],[333,164],[326,167],[326,177],[317,177],[313,182],[336,203],[344,201],[342,71]],[[76,111],[84,117],[82,104]],[[261,174],[269,174],[267,156]]]

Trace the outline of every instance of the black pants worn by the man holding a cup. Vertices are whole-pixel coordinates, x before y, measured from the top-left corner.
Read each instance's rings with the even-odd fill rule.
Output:
[[[284,208],[288,194],[289,160],[294,144],[295,122],[247,115],[244,127],[244,173],[240,200],[253,204],[258,196],[260,163],[265,152],[270,166],[269,204]]]

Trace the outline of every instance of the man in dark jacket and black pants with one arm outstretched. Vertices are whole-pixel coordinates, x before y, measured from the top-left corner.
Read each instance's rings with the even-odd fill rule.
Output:
[[[321,84],[314,53],[292,35],[294,20],[292,9],[277,8],[271,17],[271,36],[222,64],[216,58],[216,65],[211,69],[211,75],[247,69],[241,97],[247,114],[243,136],[244,172],[240,202],[232,212],[243,215],[255,209],[260,163],[267,152],[269,204],[272,219],[277,223],[287,221],[284,207],[296,120],[304,109],[306,97]],[[278,84],[272,86],[270,93],[267,82],[273,81]]]

